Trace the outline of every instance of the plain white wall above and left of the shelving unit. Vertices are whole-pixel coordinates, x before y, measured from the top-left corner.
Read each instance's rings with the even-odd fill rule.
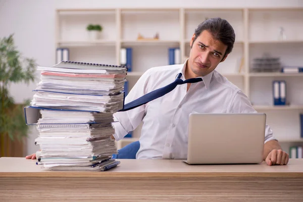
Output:
[[[0,37],[15,33],[15,42],[24,57],[36,59],[40,65],[53,65],[55,61],[55,10],[63,8],[293,8],[303,7],[301,0],[0,0]],[[37,77],[38,77],[37,72]],[[17,103],[31,99],[30,85],[13,85],[10,92]],[[27,154],[34,153],[37,146],[35,128],[29,134]]]

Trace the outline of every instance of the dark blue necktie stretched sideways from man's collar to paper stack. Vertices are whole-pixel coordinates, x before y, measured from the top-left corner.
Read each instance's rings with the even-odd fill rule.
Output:
[[[164,86],[157,90],[151,91],[151,92],[143,95],[142,97],[139,97],[138,99],[133,100],[132,102],[124,105],[124,108],[122,110],[120,110],[119,112],[124,112],[124,111],[134,109],[136,107],[139,107],[141,105],[144,105],[144,104],[150,102],[151,100],[157,99],[158,97],[161,97],[161,96],[169,93],[173,89],[175,89],[175,87],[177,87],[177,85],[181,85],[184,83],[196,83],[199,81],[203,81],[203,79],[201,79],[201,78],[192,78],[192,79],[187,79],[187,80],[183,81],[182,79],[180,79],[181,76],[182,76],[182,73],[179,73],[176,80],[174,82],[172,82],[171,84],[168,84],[167,86]]]

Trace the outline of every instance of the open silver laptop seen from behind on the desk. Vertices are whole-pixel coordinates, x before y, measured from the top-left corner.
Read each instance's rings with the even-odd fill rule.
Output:
[[[187,164],[263,161],[266,114],[190,114]]]

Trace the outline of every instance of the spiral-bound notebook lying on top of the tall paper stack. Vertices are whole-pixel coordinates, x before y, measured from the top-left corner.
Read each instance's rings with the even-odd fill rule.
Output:
[[[85,74],[122,74],[127,72],[127,67],[119,65],[61,61],[52,67],[38,66],[37,70]]]

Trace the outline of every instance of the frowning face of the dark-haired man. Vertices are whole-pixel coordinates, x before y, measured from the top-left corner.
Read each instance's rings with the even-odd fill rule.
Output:
[[[212,34],[204,30],[201,34],[194,39],[193,35],[190,40],[190,54],[187,63],[187,70],[191,76],[199,77],[205,76],[211,73],[220,62],[223,62],[223,58],[227,45],[221,41],[215,40]],[[223,60],[222,60],[223,59]]]

